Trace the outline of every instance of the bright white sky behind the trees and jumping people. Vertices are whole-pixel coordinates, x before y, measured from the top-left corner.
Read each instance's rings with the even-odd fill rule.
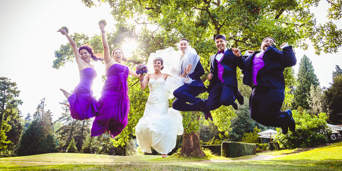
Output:
[[[324,5],[327,4],[315,9],[315,13],[320,14],[317,21],[321,23],[326,21],[327,7]],[[24,102],[19,109],[24,117],[28,113],[32,116],[40,100],[46,97],[46,109],[52,112],[53,120],[58,119],[62,113],[62,105],[58,102],[65,99],[59,89],[70,92],[79,82],[76,63],[68,63],[61,69],[51,67],[55,59],[54,51],[67,43],[66,37],[56,32],[57,29],[67,26],[69,34],[100,34],[97,23],[101,19],[106,19],[107,30],[114,28],[110,11],[107,4],[89,9],[81,0],[0,0],[0,77],[17,83],[21,91],[18,99]],[[342,28],[341,22],[335,23]],[[306,54],[312,61],[321,87],[330,86],[335,65],[342,67],[342,48],[337,54],[321,53],[320,56],[315,55],[312,46],[307,51],[295,49],[295,52],[298,60],[295,73],[298,73],[300,59]],[[124,54],[131,55],[129,51]],[[98,98],[103,85],[101,75],[104,74],[104,65],[100,62],[93,64],[97,77],[92,89]]]

